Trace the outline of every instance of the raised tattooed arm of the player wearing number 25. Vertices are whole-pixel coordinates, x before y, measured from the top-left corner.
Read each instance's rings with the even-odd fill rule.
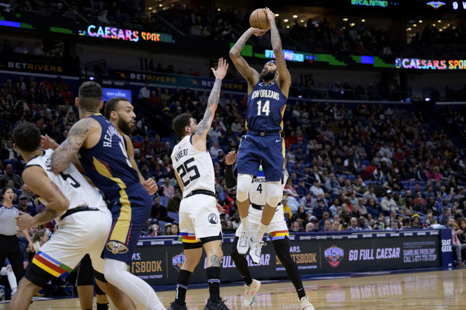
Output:
[[[218,98],[220,97],[222,79],[225,78],[225,75],[227,74],[228,63],[226,60],[223,60],[223,58],[220,58],[218,60],[217,70],[214,70],[214,68],[211,69],[214,72],[215,76],[214,87],[210,92],[209,100],[207,101],[207,108],[204,112],[204,117],[199,122],[196,128],[196,132],[191,140],[191,143],[193,144],[194,148],[199,151],[206,150],[205,139],[207,137],[207,132],[209,131],[210,126],[212,125],[212,121],[214,120],[215,111],[218,105]]]

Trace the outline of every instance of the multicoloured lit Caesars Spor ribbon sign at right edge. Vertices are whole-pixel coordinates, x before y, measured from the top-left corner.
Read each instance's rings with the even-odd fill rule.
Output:
[[[463,70],[466,69],[466,59],[433,60],[418,58],[397,58],[396,68],[423,70]]]

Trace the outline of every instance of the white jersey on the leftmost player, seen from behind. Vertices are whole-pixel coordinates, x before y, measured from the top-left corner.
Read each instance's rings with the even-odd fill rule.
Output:
[[[69,201],[69,209],[79,206],[96,207],[99,210],[105,211],[107,205],[102,199],[97,189],[92,187],[83,175],[76,169],[73,164],[70,164],[64,171],[55,174],[50,168],[50,156],[52,150],[44,151],[43,156],[33,158],[28,162],[26,167],[39,166],[45,170],[50,180],[55,183],[63,192]],[[47,203],[47,202],[45,202]]]

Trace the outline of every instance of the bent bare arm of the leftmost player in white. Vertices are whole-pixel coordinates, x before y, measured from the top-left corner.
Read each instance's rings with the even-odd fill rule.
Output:
[[[47,207],[34,217],[21,212],[21,215],[16,217],[20,229],[45,224],[67,211],[68,199],[63,195],[60,188],[49,179],[47,173],[41,167],[31,166],[26,168],[23,171],[22,178],[29,189],[47,202]]]

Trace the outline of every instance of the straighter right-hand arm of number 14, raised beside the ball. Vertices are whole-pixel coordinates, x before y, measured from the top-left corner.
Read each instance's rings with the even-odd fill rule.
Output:
[[[278,32],[277,25],[275,24],[275,14],[273,14],[269,8],[265,8],[264,10],[266,11],[267,18],[270,22],[270,38],[272,41],[273,53],[275,54],[275,62],[277,63],[278,86],[282,93],[288,97],[291,85],[291,75],[286,68],[286,62],[283,58],[282,40],[280,39],[280,33]]]

